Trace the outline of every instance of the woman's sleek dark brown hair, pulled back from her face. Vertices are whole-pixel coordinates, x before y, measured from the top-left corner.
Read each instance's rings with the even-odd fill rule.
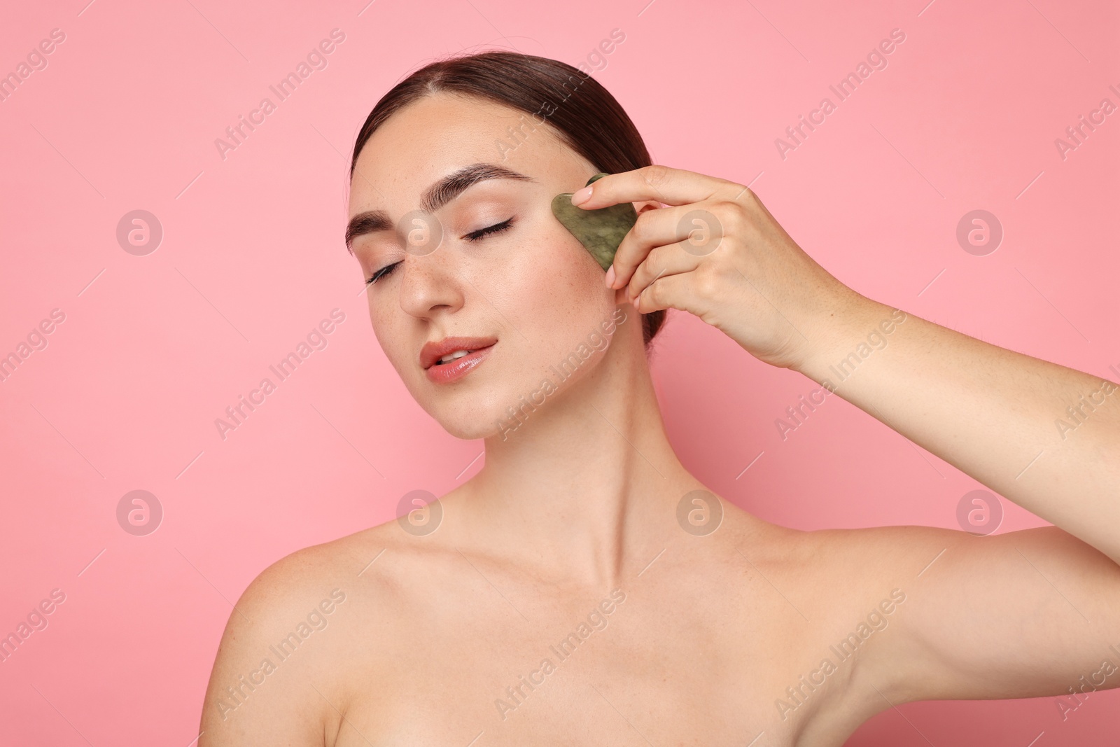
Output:
[[[493,50],[431,63],[393,86],[357,134],[351,177],[362,148],[385,120],[439,92],[476,96],[536,116],[545,112],[543,116],[557,136],[597,171],[617,174],[652,164],[637,128],[595,78],[548,57]],[[642,315],[646,346],[664,319],[664,310]]]

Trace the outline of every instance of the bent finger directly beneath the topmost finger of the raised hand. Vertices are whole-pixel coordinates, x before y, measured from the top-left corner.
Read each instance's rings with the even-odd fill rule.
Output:
[[[698,256],[711,253],[722,237],[722,225],[703,205],[710,204],[660,207],[638,215],[615,251],[615,280],[610,287],[631,282],[634,271],[656,246],[674,244]]]

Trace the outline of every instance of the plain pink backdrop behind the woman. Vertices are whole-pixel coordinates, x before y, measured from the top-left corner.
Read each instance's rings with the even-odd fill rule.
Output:
[[[1118,377],[1120,113],[1065,159],[1054,144],[1120,104],[1114,4],[366,1],[6,9],[0,74],[53,28],[66,38],[0,102],[0,355],[52,309],[66,318],[0,382],[0,634],[50,589],[66,601],[0,664],[4,745],[187,746],[256,573],[480,467],[482,443],[444,432],[382,355],[342,243],[358,127],[436,57],[578,64],[619,28],[596,75],[656,162],[752,184],[871,298]],[[334,28],[328,66],[223,160],[214,140]],[[894,28],[888,67],[782,159],[775,138]],[[164,228],[144,256],[115,237],[138,208]],[[986,256],[955,240],[976,208],[1005,231]],[[328,347],[222,440],[215,418],[336,307]],[[955,527],[980,487],[837,398],[783,441],[775,419],[815,385],[688,315],[663,330],[655,377],[685,465],[766,520]],[[116,522],[133,489],[165,511],[147,536]],[[1000,531],[1044,523],[1005,507]],[[1118,707],[1100,692],[1063,722],[1053,698],[912,703],[848,744],[1113,745]]]

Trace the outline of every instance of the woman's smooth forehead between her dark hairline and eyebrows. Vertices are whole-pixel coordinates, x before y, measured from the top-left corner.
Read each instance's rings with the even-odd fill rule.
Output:
[[[539,124],[541,119],[474,96],[439,93],[413,102],[385,120],[362,148],[349,213],[403,215],[420,206],[429,185],[468,164],[496,164],[566,184],[594,170],[550,127]]]

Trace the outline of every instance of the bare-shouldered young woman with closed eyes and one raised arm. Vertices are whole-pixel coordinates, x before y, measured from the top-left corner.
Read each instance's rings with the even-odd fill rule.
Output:
[[[747,187],[651,166],[610,94],[554,60],[418,71],[370,114],[352,176],[377,340],[485,466],[263,571],[203,747],[825,746],[907,701],[1120,684],[1111,382],[844,287]],[[638,211],[606,278],[559,193]],[[802,532],[718,498],[657,410],[646,346],[670,307],[1055,526]],[[841,382],[839,362],[858,370]]]

